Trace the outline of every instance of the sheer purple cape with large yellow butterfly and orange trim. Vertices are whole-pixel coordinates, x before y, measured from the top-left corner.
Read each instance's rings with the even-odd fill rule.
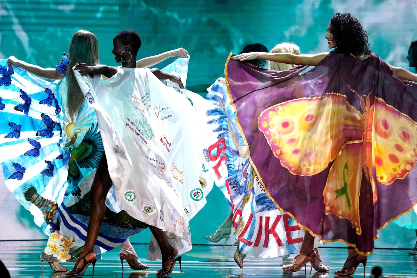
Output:
[[[377,230],[417,201],[417,87],[372,53],[314,69],[235,60],[226,82],[251,164],[277,207],[325,242],[373,251]]]

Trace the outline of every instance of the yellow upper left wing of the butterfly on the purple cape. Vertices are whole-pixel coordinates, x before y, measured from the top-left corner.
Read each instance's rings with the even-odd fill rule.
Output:
[[[326,169],[346,142],[362,140],[361,118],[346,96],[327,93],[273,105],[258,124],[281,165],[309,176]]]

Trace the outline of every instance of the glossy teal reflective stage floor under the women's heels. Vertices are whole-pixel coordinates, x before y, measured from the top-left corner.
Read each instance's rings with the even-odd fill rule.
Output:
[[[53,273],[48,263],[44,264],[43,271],[39,260],[40,252],[45,247],[45,241],[0,241],[0,260],[8,268],[11,277],[63,277],[59,273]],[[97,278],[136,278],[155,277],[156,270],[161,268],[161,262],[149,262],[146,260],[148,245],[134,244],[141,261],[149,266],[147,271],[134,271],[128,268],[125,262],[125,272],[122,272],[119,248],[107,252],[103,259],[95,265],[94,277]],[[291,258],[259,259],[247,256],[244,260],[244,269],[239,268],[233,260],[233,250],[227,250],[221,245],[194,245],[193,250],[183,255],[182,270],[179,271],[177,263],[174,272],[169,277],[229,277],[229,278],[269,278],[269,277],[309,277],[304,269],[296,273],[288,273],[281,270],[283,264],[291,262]],[[311,277],[334,277],[333,272],[342,268],[347,257],[345,248],[320,248],[322,259],[329,265],[330,272],[327,275],[311,273]],[[64,263],[67,268],[72,268],[73,263]],[[417,277],[417,258],[407,254],[407,250],[377,249],[369,256],[366,276],[373,277],[372,268],[382,268],[383,277]],[[93,268],[88,267],[83,277],[91,277]],[[357,269],[353,277],[363,275],[362,265]],[[4,276],[0,274],[0,277]]]

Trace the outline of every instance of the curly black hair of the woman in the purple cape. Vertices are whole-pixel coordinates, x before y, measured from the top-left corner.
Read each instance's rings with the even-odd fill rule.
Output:
[[[362,24],[350,13],[336,13],[330,19],[332,33],[337,53],[353,54],[355,56],[369,55],[368,33]]]

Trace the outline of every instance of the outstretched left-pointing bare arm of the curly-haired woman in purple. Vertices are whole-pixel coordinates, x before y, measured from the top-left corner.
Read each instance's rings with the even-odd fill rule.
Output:
[[[232,59],[239,61],[262,59],[290,65],[317,65],[327,54],[329,53],[295,55],[291,53],[249,52],[233,56]]]

